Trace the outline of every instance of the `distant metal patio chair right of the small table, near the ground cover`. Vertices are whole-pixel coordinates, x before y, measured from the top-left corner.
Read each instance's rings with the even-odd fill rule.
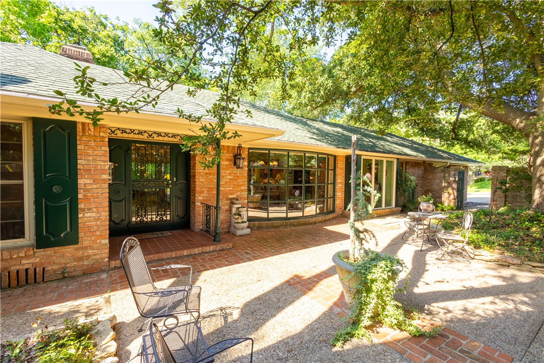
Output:
[[[473,259],[474,253],[472,248],[467,245],[473,220],[472,213],[465,212],[461,223],[461,231],[458,235],[445,232],[436,233],[436,241],[440,246],[436,254],[441,254],[440,259],[443,259],[444,255],[448,255],[456,260],[470,261]]]

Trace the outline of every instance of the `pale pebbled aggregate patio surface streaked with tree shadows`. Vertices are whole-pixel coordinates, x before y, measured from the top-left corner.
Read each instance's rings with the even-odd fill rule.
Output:
[[[365,222],[378,237],[377,249],[398,254],[407,264],[411,279],[406,294],[399,293],[397,299],[443,327],[513,356],[514,361],[524,357],[526,362],[542,361],[544,333],[537,333],[544,323],[544,275],[481,261],[438,260],[436,245],[425,245],[420,251],[421,240],[400,241],[405,230],[402,218]],[[318,225],[252,231],[234,239],[232,250],[168,261],[195,268],[193,280],[202,287],[201,323],[207,341],[250,336],[255,339],[258,362],[407,361],[379,343],[354,340],[343,349],[333,348],[329,342],[343,321],[286,283],[305,270],[336,274],[331,259],[349,246],[347,221],[338,217]],[[153,262],[160,264],[164,263]],[[405,276],[401,274],[400,284]],[[170,278],[160,284],[177,282]],[[139,350],[137,329],[145,319],[138,315],[129,290],[113,291],[103,303],[104,312],[118,317],[118,356],[125,362]],[[74,306],[51,309],[69,313]],[[35,313],[2,317],[2,335],[7,326],[17,335],[17,319]],[[248,346],[242,345],[217,361],[244,361],[248,353]]]

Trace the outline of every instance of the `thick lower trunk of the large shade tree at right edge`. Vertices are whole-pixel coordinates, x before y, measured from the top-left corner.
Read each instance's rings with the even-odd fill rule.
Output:
[[[527,138],[533,159],[532,208],[544,213],[544,128],[535,127]]]

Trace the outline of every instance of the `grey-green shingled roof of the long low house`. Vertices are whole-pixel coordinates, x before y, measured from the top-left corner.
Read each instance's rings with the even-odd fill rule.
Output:
[[[122,72],[90,64],[89,74],[100,82],[123,82]],[[0,44],[0,90],[2,94],[17,94],[26,97],[56,98],[53,90],[60,89],[78,101],[87,101],[77,95],[72,78],[76,76],[73,60],[46,52],[39,48],[1,43]],[[97,92],[103,97],[129,97],[139,90],[133,84],[112,85],[106,88],[97,85]],[[187,86],[178,85],[173,91],[161,96],[156,108],[145,109],[147,113],[175,116],[179,107],[186,113],[206,114],[218,94],[201,90],[195,97],[187,96]],[[281,136],[267,140],[282,141],[298,145],[351,149],[351,136],[357,135],[357,150],[382,153],[390,156],[406,156],[422,159],[443,160],[463,164],[481,164],[473,159],[456,155],[436,147],[416,143],[391,133],[379,136],[367,128],[336,124],[334,122],[305,119],[250,102],[241,102],[242,110],[249,109],[252,118],[240,113],[233,124],[282,130]]]

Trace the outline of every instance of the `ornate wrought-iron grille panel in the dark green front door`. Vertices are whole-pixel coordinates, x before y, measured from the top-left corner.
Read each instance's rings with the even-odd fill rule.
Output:
[[[132,144],[134,226],[170,222],[170,145]]]

